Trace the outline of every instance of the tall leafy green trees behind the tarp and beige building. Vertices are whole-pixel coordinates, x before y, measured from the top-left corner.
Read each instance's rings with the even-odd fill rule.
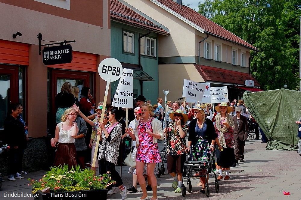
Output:
[[[300,0],[205,0],[199,13],[260,49],[251,71],[265,90],[299,89]]]

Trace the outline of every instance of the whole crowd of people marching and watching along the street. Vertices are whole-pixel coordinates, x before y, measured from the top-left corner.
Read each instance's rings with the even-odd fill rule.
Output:
[[[175,193],[182,192],[184,163],[188,153],[190,160],[208,161],[209,154],[216,150],[217,179],[228,180],[230,168],[235,167],[238,161],[244,162],[247,120],[251,116],[243,100],[238,103],[237,100],[222,102],[214,110],[210,103],[191,105],[190,108],[184,101],[167,101],[166,113],[162,102],[159,97],[152,106],[150,100],[139,95],[134,100],[134,109],[129,109],[126,128],[126,109],[113,107],[110,103],[104,105],[104,102],[96,106],[90,88],[82,87],[79,97],[79,88],[65,82],[55,97],[57,125],[55,136],[51,139],[51,146],[56,148],[53,165],[67,164],[69,169],[77,165],[82,169],[91,167],[95,175],[97,169],[99,174],[109,171],[115,181],[107,188],[109,195],[116,193],[118,187],[124,200],[127,191],[138,192],[139,184],[142,190],[140,199],[149,199],[147,192],[152,191],[151,200],[156,200],[157,164],[162,161],[157,141],[166,139],[167,171],[173,178],[171,187]],[[101,119],[103,108],[105,113]],[[26,174],[22,169],[22,158],[27,147],[28,127],[20,116],[22,104],[11,104],[8,110],[4,129],[17,134],[8,134],[8,143],[12,147],[8,151],[8,180],[16,181],[24,179],[20,175]],[[301,124],[300,121],[298,123]],[[98,156],[95,166],[91,166],[98,136]],[[133,174],[131,187],[123,185],[115,169],[124,165],[125,139],[132,140],[130,151],[136,161],[136,166],[129,168],[129,173]],[[256,139],[259,139],[259,133]],[[197,186],[202,187],[201,193],[205,193],[205,183],[206,178],[200,177]]]

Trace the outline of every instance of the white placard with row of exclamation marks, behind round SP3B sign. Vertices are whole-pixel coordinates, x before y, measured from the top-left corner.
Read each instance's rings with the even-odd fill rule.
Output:
[[[121,108],[134,108],[133,70],[123,69],[112,105]]]

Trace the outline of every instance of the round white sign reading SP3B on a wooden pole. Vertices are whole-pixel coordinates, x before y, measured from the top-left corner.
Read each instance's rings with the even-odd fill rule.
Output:
[[[122,74],[122,65],[115,58],[105,58],[98,65],[98,73],[99,76],[107,81],[107,79],[111,79],[111,82],[118,80]]]

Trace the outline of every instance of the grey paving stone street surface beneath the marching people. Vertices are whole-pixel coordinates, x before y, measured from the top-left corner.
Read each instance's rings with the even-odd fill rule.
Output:
[[[245,146],[244,163],[238,163],[235,168],[244,170],[240,173],[232,172],[230,179],[219,181],[219,193],[216,193],[214,179],[209,178],[210,196],[199,192],[201,187],[197,186],[197,179],[191,179],[192,191],[185,197],[181,193],[175,193],[171,187],[172,178],[167,173],[165,163],[165,174],[157,178],[159,199],[201,199],[208,200],[230,200],[230,199],[252,199],[252,200],[301,200],[301,157],[296,151],[273,151],[265,150],[266,144],[261,140],[247,140]],[[159,142],[159,149],[163,149],[164,143]],[[159,165],[161,167],[161,163]],[[120,174],[120,167],[116,167]],[[132,175],[128,174],[129,167],[122,168],[123,183],[127,187],[132,186]],[[33,199],[33,197],[5,197],[7,193],[31,193],[31,187],[27,184],[27,178],[40,179],[45,171],[30,172],[24,180],[16,182],[5,181],[0,189],[0,199]],[[4,177],[7,178],[7,177]],[[186,184],[187,179],[184,179]],[[186,187],[186,190],[187,187]],[[142,196],[140,187],[138,193],[128,193],[127,200],[138,200]],[[290,192],[284,195],[283,192]],[[152,192],[148,192],[151,198]],[[7,195],[6,195],[7,196]],[[100,198],[101,199],[101,198]],[[120,193],[109,195],[107,199],[121,199]]]

